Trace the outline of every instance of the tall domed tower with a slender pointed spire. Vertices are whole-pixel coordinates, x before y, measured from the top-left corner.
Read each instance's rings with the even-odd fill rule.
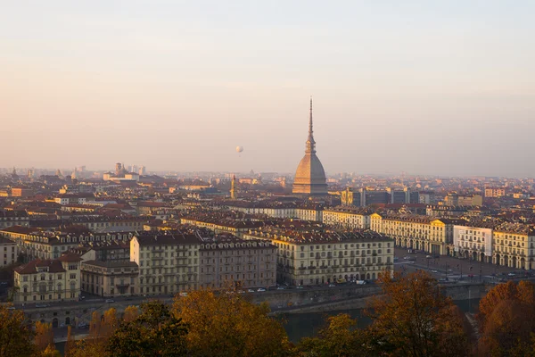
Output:
[[[316,142],[312,129],[312,98],[310,98],[309,138],[305,156],[301,159],[295,179],[293,179],[293,194],[299,195],[327,195],[325,170],[316,155]]]

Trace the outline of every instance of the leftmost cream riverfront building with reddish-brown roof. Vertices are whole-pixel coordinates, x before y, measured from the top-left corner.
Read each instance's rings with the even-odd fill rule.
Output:
[[[67,253],[59,259],[34,260],[14,269],[15,303],[78,301],[80,261]]]

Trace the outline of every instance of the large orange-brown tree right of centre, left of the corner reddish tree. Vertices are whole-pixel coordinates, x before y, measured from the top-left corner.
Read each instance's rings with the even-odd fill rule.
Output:
[[[380,276],[383,295],[366,311],[374,353],[388,356],[430,357],[471,354],[461,314],[442,294],[437,281],[424,271],[406,277]]]

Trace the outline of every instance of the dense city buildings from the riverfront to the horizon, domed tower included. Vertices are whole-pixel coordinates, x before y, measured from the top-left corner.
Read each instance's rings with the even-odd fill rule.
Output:
[[[327,177],[312,102],[293,178],[37,171],[0,170],[0,269],[17,303],[375,279],[394,246],[535,270],[533,179]]]

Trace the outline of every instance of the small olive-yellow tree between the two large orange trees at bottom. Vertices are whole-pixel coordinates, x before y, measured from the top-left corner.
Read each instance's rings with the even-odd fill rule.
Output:
[[[296,347],[300,357],[369,356],[366,331],[355,328],[357,320],[348,314],[331,316],[316,337],[305,337]]]

